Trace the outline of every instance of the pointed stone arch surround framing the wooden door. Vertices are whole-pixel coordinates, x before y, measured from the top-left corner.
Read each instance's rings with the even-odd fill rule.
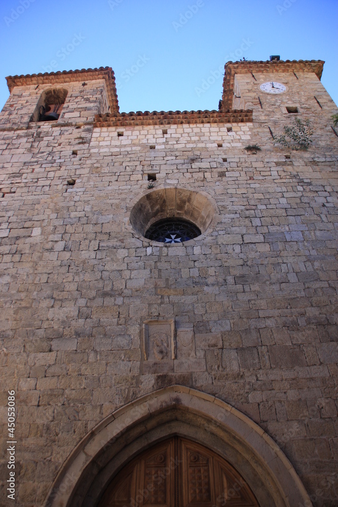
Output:
[[[63,465],[44,506],[102,507],[105,492],[133,460],[172,438],[226,461],[252,493],[255,507],[311,505],[291,463],[251,419],[214,396],[171,386],[142,396],[93,428]],[[173,494],[181,494],[177,488]]]

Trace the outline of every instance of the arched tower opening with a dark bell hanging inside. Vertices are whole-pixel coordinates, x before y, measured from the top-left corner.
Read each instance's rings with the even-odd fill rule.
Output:
[[[44,90],[32,114],[32,122],[57,121],[60,117],[68,91],[65,88]]]

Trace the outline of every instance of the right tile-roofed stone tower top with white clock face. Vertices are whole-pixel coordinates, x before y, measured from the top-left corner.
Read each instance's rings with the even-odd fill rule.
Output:
[[[274,131],[296,114],[315,122],[323,117],[328,120],[335,104],[320,82],[323,64],[314,60],[229,62],[222,108],[252,108],[254,119],[268,121]]]

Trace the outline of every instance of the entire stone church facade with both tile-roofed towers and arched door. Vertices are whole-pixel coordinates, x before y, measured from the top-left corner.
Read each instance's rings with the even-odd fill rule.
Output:
[[[323,63],[229,62],[217,111],[120,113],[109,67],[7,78],[2,505],[337,505]],[[295,118],[308,150],[274,143]]]

